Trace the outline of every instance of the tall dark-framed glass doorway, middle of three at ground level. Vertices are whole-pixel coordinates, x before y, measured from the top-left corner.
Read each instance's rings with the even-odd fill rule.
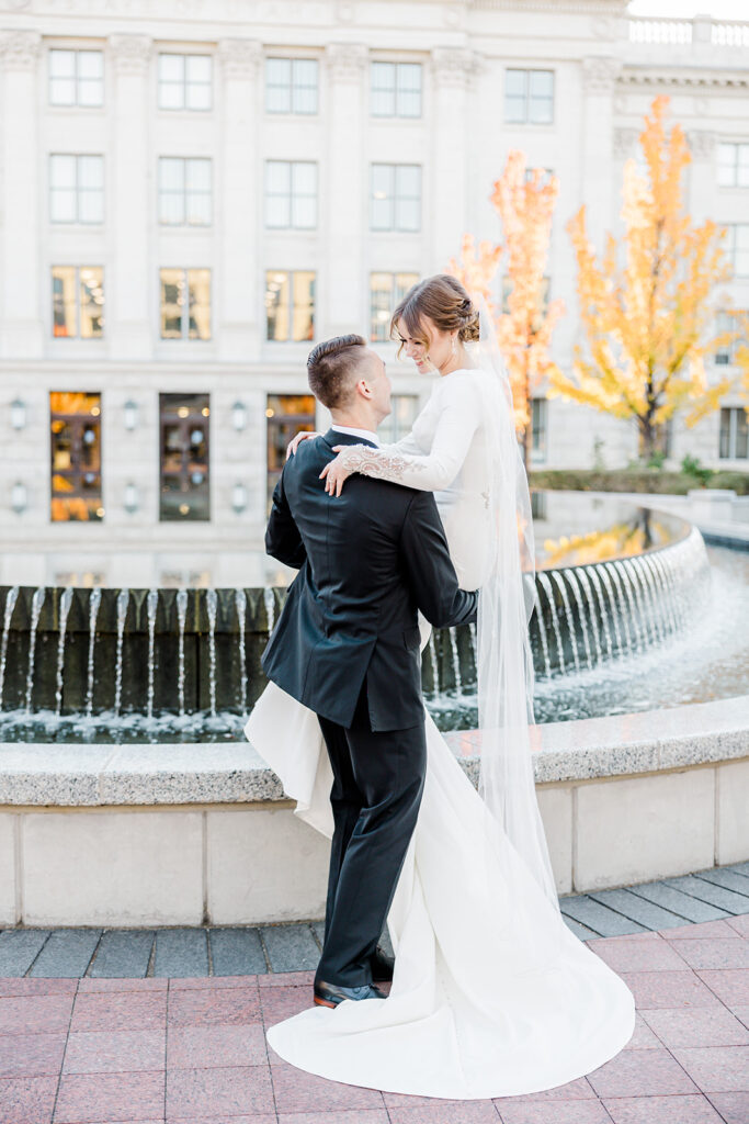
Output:
[[[210,395],[159,395],[163,523],[208,520]]]

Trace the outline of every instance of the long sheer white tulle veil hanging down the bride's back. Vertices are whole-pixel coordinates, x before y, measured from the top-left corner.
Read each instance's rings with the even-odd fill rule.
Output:
[[[533,524],[528,478],[515,436],[512,390],[488,306],[478,308],[479,339],[469,354],[481,379],[486,427],[486,580],[477,627],[479,792],[487,819],[487,862],[518,876],[517,855],[555,909],[559,908],[541,821],[530,750],[533,661],[529,622],[536,600]],[[512,845],[508,847],[508,840]],[[514,852],[514,853],[513,853]]]

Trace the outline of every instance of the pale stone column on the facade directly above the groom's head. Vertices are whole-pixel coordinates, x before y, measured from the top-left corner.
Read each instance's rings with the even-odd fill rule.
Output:
[[[328,162],[319,167],[320,246],[326,293],[316,336],[326,338],[357,330],[363,323],[364,241],[368,237],[369,166],[364,149],[366,101],[364,80],[368,52],[336,43],[326,52],[328,74]]]

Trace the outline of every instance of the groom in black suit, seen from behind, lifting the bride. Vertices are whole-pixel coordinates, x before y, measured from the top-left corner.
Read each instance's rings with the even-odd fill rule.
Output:
[[[273,495],[268,554],[299,570],[263,655],[268,677],[318,715],[335,831],[314,1003],[382,998],[377,948],[415,826],[427,767],[417,610],[435,627],[474,620],[431,492],[355,474],[340,497],[320,473],[334,445],[378,444],[385,364],[362,336],[318,344],[309,383],[332,416],[303,441]]]

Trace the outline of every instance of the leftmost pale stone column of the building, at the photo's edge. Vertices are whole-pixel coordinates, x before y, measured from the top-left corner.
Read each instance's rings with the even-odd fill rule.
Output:
[[[39,142],[37,31],[0,33],[2,64],[2,296],[0,354],[44,353],[44,301],[52,301],[48,262],[39,274]]]

